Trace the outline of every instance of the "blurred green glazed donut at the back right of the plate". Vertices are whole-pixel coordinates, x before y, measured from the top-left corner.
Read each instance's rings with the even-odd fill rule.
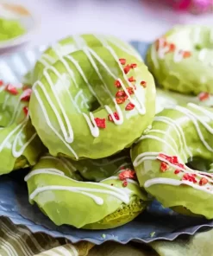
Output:
[[[160,86],[184,94],[213,94],[213,29],[177,26],[154,42],[147,65]]]

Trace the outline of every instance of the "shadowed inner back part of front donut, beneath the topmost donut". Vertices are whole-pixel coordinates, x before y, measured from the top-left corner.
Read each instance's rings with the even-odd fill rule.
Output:
[[[78,170],[81,176],[86,180],[100,182],[105,178],[113,176],[118,170],[122,168],[132,169],[132,162],[129,156],[129,150],[122,150],[122,152],[97,160],[84,159],[79,161],[72,161],[72,166]]]

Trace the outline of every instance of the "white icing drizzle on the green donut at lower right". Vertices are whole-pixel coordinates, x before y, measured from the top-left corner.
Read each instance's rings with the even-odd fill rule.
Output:
[[[213,120],[213,113],[210,112],[209,110],[205,109],[204,107],[202,106],[197,106],[193,103],[189,103],[188,106],[190,106],[191,108],[194,108],[196,109],[197,111],[201,112],[203,114],[203,116],[207,117],[207,118],[210,118],[211,120]],[[210,147],[210,145],[205,141],[204,139],[204,136],[202,134],[202,131],[200,130],[200,126],[198,125],[197,121],[200,122],[200,125],[203,125],[207,131],[209,131],[212,135],[213,135],[213,128],[210,127],[210,125],[208,125],[207,121],[206,121],[206,118],[200,118],[199,115],[197,115],[195,112],[192,112],[190,109],[188,108],[185,108],[185,107],[182,107],[182,106],[174,106],[174,107],[167,107],[167,109],[175,109],[181,113],[183,113],[187,118],[190,118],[193,125],[195,126],[196,128],[196,131],[197,131],[197,135],[198,137],[200,138],[201,142],[204,144],[204,146],[206,147],[207,150],[209,150],[210,152],[213,152],[213,149]],[[201,115],[202,116],[202,115]],[[157,121],[159,121],[159,117],[156,117],[157,118]],[[160,117],[160,118],[164,118],[164,117]],[[166,118],[166,117],[165,117]],[[156,119],[155,119],[156,121]],[[167,124],[171,125],[172,122],[167,122]],[[179,131],[183,131],[183,128],[181,128],[181,126],[179,126],[179,130],[176,130],[177,133],[179,133]],[[154,130],[153,130],[154,131]],[[148,132],[152,132],[151,131],[148,131]],[[154,131],[155,132],[155,131]],[[156,131],[158,132],[158,131]],[[146,138],[146,136],[145,136]],[[183,137],[184,138],[184,137]],[[156,138],[154,138],[156,139]],[[157,139],[159,140],[159,138]],[[166,141],[162,141],[163,144],[166,144]],[[185,146],[186,146],[186,142],[185,142]],[[187,149],[187,146],[186,146],[186,149]],[[182,149],[183,150],[183,149]],[[180,150],[182,152],[182,150]],[[178,166],[178,165],[175,165],[173,163],[170,163],[168,160],[166,160],[164,157],[159,157],[160,154],[164,154],[166,155],[166,153],[162,153],[162,152],[144,152],[144,153],[141,153],[139,154],[135,160],[134,160],[134,166],[137,167],[139,166],[141,163],[143,163],[144,161],[146,160],[151,160],[151,161],[156,161],[156,159],[160,160],[161,162],[165,162],[167,163],[170,167],[172,167],[173,169],[178,169],[178,170],[181,170],[181,172],[177,175],[181,178],[181,176],[183,175],[183,173],[185,174],[194,174],[196,175],[195,176],[195,179],[197,182],[190,182],[190,181],[187,181],[187,180],[176,180],[176,179],[171,179],[171,178],[153,178],[153,179],[149,179],[145,182],[144,186],[145,188],[148,188],[150,186],[153,186],[155,184],[168,184],[168,185],[174,185],[174,186],[179,186],[181,184],[186,184],[188,186],[191,186],[193,187],[194,189],[199,189],[199,190],[202,190],[202,191],[205,191],[207,193],[210,193],[210,194],[213,194],[213,189],[211,188],[212,185],[210,185],[209,183],[203,185],[203,186],[200,186],[199,185],[199,179],[198,178],[205,178],[208,182],[212,183],[213,182],[213,175],[210,174],[208,172],[208,176],[205,176],[204,172],[202,171],[198,171],[198,170],[191,170],[191,168],[187,167],[185,165],[185,163],[183,163],[181,161],[181,159],[178,159],[179,163],[182,163],[183,164],[183,168]],[[177,154],[178,155],[178,154]],[[192,157],[192,156],[191,156]]]

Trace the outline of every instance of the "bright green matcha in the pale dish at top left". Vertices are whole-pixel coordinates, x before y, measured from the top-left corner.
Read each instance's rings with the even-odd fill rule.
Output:
[[[26,33],[22,24],[16,20],[0,18],[0,42],[13,39]]]

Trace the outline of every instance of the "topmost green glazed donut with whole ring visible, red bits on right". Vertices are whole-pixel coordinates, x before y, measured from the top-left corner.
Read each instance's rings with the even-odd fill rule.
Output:
[[[153,76],[142,61],[105,43],[66,55],[34,83],[30,116],[55,157],[109,157],[152,123]]]

